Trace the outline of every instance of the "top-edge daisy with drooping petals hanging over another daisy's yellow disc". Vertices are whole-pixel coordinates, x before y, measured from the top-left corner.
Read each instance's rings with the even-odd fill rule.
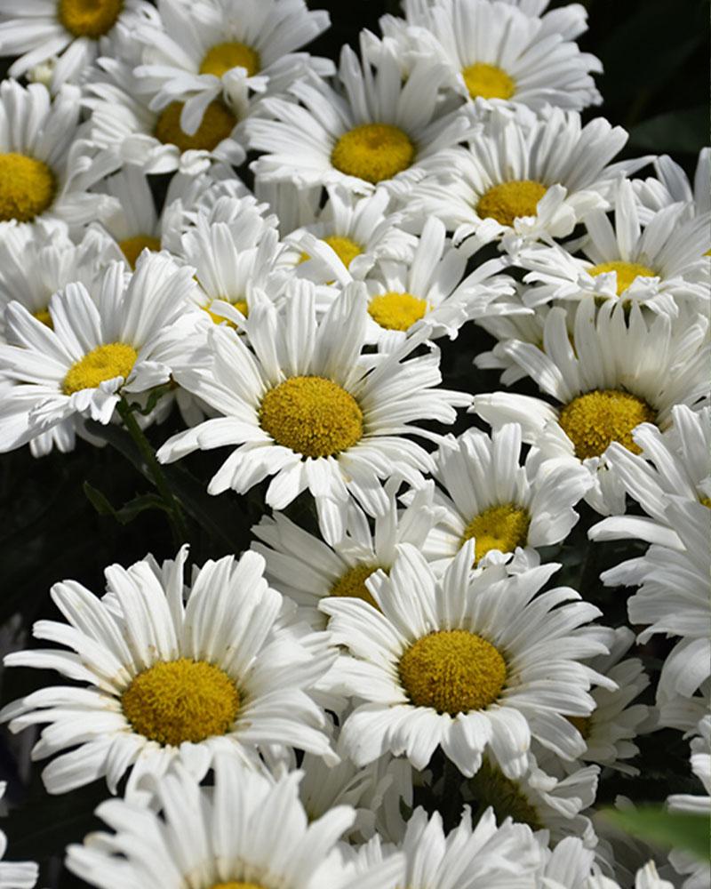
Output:
[[[259,100],[265,91],[284,92],[308,70],[334,72],[328,59],[293,52],[330,24],[328,12],[309,12],[303,0],[159,0],[158,12],[157,31],[136,28],[144,44],[136,76],[153,110],[181,103],[180,126],[190,135],[212,102],[239,107],[245,83]]]

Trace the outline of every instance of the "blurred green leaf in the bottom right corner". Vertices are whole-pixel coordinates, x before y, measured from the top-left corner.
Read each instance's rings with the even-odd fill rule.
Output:
[[[665,848],[686,849],[701,861],[709,860],[709,818],[685,812],[668,812],[661,805],[643,805],[629,811],[603,809],[613,827]]]

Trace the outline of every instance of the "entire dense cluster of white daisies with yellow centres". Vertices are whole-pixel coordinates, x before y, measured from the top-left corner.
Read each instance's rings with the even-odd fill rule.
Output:
[[[218,448],[263,507],[239,558],[57,583],[4,659],[59,676],[0,713],[48,793],[115,797],[88,885],[708,885],[595,798],[664,728],[711,811],[711,152],[617,160],[546,7],[404,0],[336,65],[303,0],[0,4],[0,451],[114,424],[173,517],[161,466]],[[499,391],[443,386],[471,324]],[[593,584],[629,626],[555,585],[581,501],[648,545]]]

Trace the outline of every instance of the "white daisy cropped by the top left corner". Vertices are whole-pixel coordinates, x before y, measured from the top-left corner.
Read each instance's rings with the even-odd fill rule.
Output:
[[[144,0],[4,0],[0,10],[0,56],[18,56],[8,73],[28,74],[52,60],[47,86],[77,83],[99,53],[113,49],[118,23],[156,27],[156,10]],[[59,58],[57,58],[59,57]]]

